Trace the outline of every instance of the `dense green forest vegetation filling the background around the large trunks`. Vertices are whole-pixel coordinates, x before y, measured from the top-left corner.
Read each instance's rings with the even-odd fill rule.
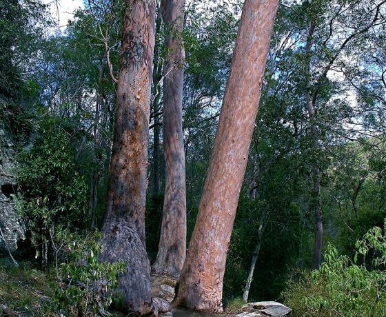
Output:
[[[77,234],[73,241],[82,241],[103,222],[115,101],[104,41],[116,72],[121,2],[85,3],[64,32],[53,32],[53,21],[39,1],[0,0],[0,120],[12,127],[17,139],[19,190],[14,204],[35,246],[30,247],[31,256],[23,253],[16,258],[21,263],[28,260],[33,267],[21,278],[29,274],[43,287],[46,277],[41,269],[47,270],[52,288],[61,289],[54,283],[52,266],[58,261],[54,255],[63,230]],[[243,296],[262,225],[250,301],[283,300],[295,316],[384,316],[385,17],[339,50],[340,37],[363,29],[374,16],[374,6],[369,1],[292,2],[283,1],[279,8],[272,38],[227,257],[225,305]],[[203,6],[193,1],[186,12],[183,132],[188,239],[210,159],[240,9],[241,3]],[[307,56],[311,20],[316,21],[317,31],[311,56]],[[107,34],[105,40],[101,32]],[[160,46],[163,43],[163,28],[156,41]],[[162,49],[160,54],[162,60]],[[314,120],[320,140],[315,147],[306,112],[305,69],[310,59],[312,81],[317,83],[335,54],[339,54],[334,60],[338,76],[325,76],[320,86],[312,87],[319,90]],[[154,87],[153,94],[159,89]],[[154,156],[154,151],[162,153],[153,143],[161,118],[160,105],[156,109],[154,105],[149,161],[159,169],[161,191],[155,192],[150,166],[146,215],[150,261],[156,256],[161,230],[164,174],[163,160],[156,162]],[[309,211],[315,162],[321,167],[323,252],[327,253],[321,270],[309,272],[315,231],[314,214]],[[369,229],[371,234],[357,243]],[[111,267],[94,269],[114,277]],[[0,268],[4,277],[0,301],[10,300],[3,294],[3,283],[11,283],[12,274],[14,269]],[[85,274],[86,278],[92,275]],[[54,296],[51,291],[45,294]],[[24,292],[20,296],[27,297]],[[14,309],[32,301],[15,302]]]

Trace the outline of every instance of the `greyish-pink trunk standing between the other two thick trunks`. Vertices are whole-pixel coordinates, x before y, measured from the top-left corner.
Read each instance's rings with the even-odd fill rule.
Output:
[[[152,269],[179,277],[186,256],[185,152],[182,134],[183,7],[185,0],[161,0],[167,35],[163,70],[163,152],[165,198],[159,251]]]

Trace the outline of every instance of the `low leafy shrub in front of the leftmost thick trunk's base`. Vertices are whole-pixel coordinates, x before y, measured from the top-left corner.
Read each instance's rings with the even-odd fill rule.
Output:
[[[57,234],[55,249],[63,250],[66,262],[57,266],[59,287],[54,295],[53,311],[71,316],[105,316],[112,303],[112,292],[118,284],[124,262],[99,262],[99,232],[81,238],[68,231]]]

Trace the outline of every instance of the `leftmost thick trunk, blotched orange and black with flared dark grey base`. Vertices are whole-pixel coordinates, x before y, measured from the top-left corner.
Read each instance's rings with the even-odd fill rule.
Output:
[[[145,251],[145,197],[155,4],[154,0],[126,4],[100,260],[127,263],[116,289],[121,309],[149,314],[154,307]]]

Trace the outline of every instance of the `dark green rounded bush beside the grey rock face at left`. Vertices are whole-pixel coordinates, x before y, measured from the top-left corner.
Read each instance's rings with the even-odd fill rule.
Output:
[[[54,119],[43,119],[29,150],[19,154],[17,209],[32,232],[32,242],[42,245],[37,255],[47,263],[50,230],[57,226],[82,229],[87,220],[88,185],[77,169],[70,134]]]

